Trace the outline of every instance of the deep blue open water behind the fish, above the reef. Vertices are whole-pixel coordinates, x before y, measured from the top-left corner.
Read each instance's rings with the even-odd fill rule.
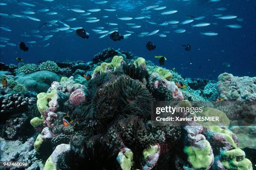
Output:
[[[12,30],[7,32],[0,30],[1,37],[8,37],[8,42],[0,42],[2,45],[6,43],[14,43],[17,46],[6,45],[0,47],[0,61],[10,64],[18,64],[16,57],[21,57],[25,63],[38,63],[40,60],[84,60],[90,61],[92,57],[104,48],[113,47],[120,48],[124,51],[131,51],[134,55],[144,57],[146,60],[151,60],[158,64],[158,60],[154,55],[163,55],[167,58],[164,67],[172,69],[173,67],[184,77],[200,77],[216,80],[218,75],[223,72],[232,73],[236,76],[256,76],[256,1],[255,0],[221,0],[219,2],[209,2],[208,0],[108,0],[105,4],[95,4],[90,0],[54,0],[53,2],[45,2],[43,0],[24,0],[35,7],[22,5],[16,0],[1,0],[2,3],[8,5],[0,6],[0,13],[26,15],[21,11],[31,10],[36,12],[41,8],[50,9],[48,12],[57,12],[57,15],[45,15],[45,13],[36,12],[33,15],[28,15],[40,19],[34,21],[28,18],[6,18],[0,17],[0,26]],[[142,9],[159,4],[166,6],[164,10],[146,10],[148,13],[141,14]],[[227,10],[219,11],[216,8],[226,7]],[[100,12],[92,13],[88,16],[81,16],[80,13],[73,12],[72,8],[89,10],[92,8],[100,8]],[[115,12],[107,12],[103,9],[115,8]],[[170,15],[161,15],[166,10],[178,10],[177,13]],[[47,12],[46,12],[47,13]],[[237,18],[243,18],[244,21],[235,19],[221,20],[212,16],[215,14],[236,15]],[[102,18],[103,15],[109,16]],[[120,17],[132,17],[147,15],[151,18],[143,20],[118,20]],[[159,26],[151,25],[146,21],[154,21],[158,24],[169,20],[189,19],[187,15],[195,17],[204,15],[202,20],[195,20],[187,25],[177,24],[178,28],[187,30],[184,33],[174,33],[177,28],[172,28],[171,25]],[[56,23],[59,26],[52,25],[40,28],[44,23],[50,20],[62,20],[64,18],[74,17],[77,20],[65,22],[70,27],[83,27],[90,33],[89,39],[78,37],[75,32],[67,33],[59,32],[44,32],[64,27],[61,23]],[[86,23],[87,17],[96,17],[100,19],[97,23]],[[118,23],[118,25],[108,26],[106,23]],[[192,28],[191,24],[195,23],[211,23],[207,27]],[[141,25],[141,28],[132,29],[131,26],[125,23],[136,23]],[[232,29],[225,25],[239,24],[242,28]],[[91,29],[95,27],[105,27],[102,30],[110,30],[118,28],[121,35],[127,34],[125,30],[134,31],[135,33],[127,39],[114,42],[106,36],[99,39],[102,34],[96,34]],[[31,30],[40,30],[39,33],[31,33]],[[136,33],[152,32],[154,30],[170,31],[164,33],[166,37],[159,35],[138,37]],[[217,32],[217,36],[204,36],[200,32],[213,31]],[[26,32],[27,36],[24,37]],[[54,35],[49,40],[42,41],[43,38],[33,37],[32,35]],[[19,49],[18,44],[24,41],[29,47],[28,52],[23,52]],[[36,41],[34,44],[29,44],[28,41]],[[148,41],[156,45],[156,50],[148,51],[145,47]],[[47,47],[43,47],[46,44]],[[192,50],[185,51],[183,44],[189,43]],[[223,66],[223,62],[229,62],[230,67]]]

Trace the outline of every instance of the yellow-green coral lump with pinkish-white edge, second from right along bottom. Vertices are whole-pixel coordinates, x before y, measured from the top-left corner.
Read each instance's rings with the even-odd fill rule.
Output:
[[[212,163],[212,157],[210,156],[212,148],[207,140],[200,140],[205,143],[205,148],[195,148],[193,146],[185,146],[184,153],[189,157],[189,162],[192,164],[194,170],[208,170],[208,167]]]

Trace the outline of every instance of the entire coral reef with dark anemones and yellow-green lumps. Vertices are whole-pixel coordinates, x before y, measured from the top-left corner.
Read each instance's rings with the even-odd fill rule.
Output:
[[[8,80],[0,86],[1,161],[28,162],[28,170],[252,170],[255,104],[242,101],[255,100],[255,77],[184,78],[112,48],[90,62],[0,65]],[[226,101],[211,102],[217,97]],[[220,121],[158,125],[154,101],[202,104],[179,116]]]

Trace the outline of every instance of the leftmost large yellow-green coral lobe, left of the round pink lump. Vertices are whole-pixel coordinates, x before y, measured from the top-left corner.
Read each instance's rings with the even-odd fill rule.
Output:
[[[55,95],[56,90],[51,90],[50,93],[41,92],[37,95],[36,105],[40,113],[43,113],[48,108],[48,105],[50,105]]]

